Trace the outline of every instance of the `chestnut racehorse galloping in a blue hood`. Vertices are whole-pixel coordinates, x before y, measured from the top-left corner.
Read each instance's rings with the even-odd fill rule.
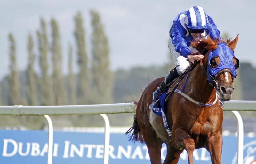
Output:
[[[237,40],[238,35],[233,41],[225,41],[225,45],[230,48],[230,51],[233,51],[236,47]],[[191,43],[199,52],[206,50],[207,53],[202,59],[205,71],[207,71],[208,64],[211,68],[217,68],[220,65],[220,57],[213,57],[208,61],[209,53],[214,52],[220,42],[224,43],[224,41],[213,41],[208,36],[207,39],[202,38]],[[231,64],[233,63],[233,67],[237,69],[239,66],[238,59],[232,58],[231,60]],[[190,71],[183,93],[198,102],[209,104],[216,99],[217,90],[222,101],[230,100],[234,91],[233,76],[236,75],[233,75],[228,69],[222,69],[216,73],[214,79],[216,85],[212,86],[208,82],[205,71],[200,64],[197,64]],[[164,164],[177,164],[183,150],[188,153],[189,164],[193,164],[194,149],[202,147],[210,152],[213,164],[220,164],[222,151],[221,125],[223,120],[220,101],[218,100],[212,106],[201,106],[178,93],[173,93],[167,101],[166,107],[167,121],[172,132],[172,137],[169,138],[164,129],[162,118],[149,109],[150,104],[153,103],[152,92],[160,86],[163,79],[164,77],[152,81],[136,103],[137,108],[133,126],[126,132],[126,134],[132,133],[130,140],[146,143],[152,164],[161,163],[163,143],[167,146]],[[184,81],[185,78],[182,79],[177,89],[181,89]]]

